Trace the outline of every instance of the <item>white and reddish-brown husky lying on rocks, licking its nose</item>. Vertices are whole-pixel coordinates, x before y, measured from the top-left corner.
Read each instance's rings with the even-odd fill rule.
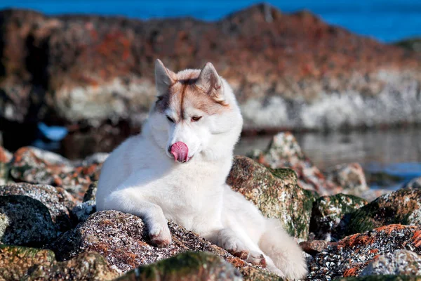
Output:
[[[97,209],[140,216],[159,247],[171,243],[166,220],[173,220],[282,277],[304,277],[293,238],[225,183],[243,126],[227,81],[211,63],[176,74],[161,60],[155,78],[158,98],[142,133],[102,166]]]

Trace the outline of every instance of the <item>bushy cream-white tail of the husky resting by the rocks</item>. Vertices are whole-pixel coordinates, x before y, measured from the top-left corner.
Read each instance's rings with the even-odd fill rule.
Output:
[[[259,247],[274,261],[286,277],[300,279],[307,275],[307,263],[297,243],[283,230],[277,219],[268,219]]]

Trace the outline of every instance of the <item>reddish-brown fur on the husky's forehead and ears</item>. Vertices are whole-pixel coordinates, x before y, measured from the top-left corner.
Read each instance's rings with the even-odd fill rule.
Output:
[[[223,86],[211,63],[202,70],[183,70],[175,74],[161,60],[156,60],[156,89],[159,92],[155,110],[164,112],[171,107],[179,118],[185,118],[186,107],[194,107],[207,115],[227,109]]]

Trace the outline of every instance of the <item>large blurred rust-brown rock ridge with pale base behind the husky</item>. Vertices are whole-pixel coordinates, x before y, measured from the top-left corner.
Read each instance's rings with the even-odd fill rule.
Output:
[[[421,122],[420,53],[307,11],[260,4],[203,22],[6,10],[0,42],[0,130],[12,150],[28,145],[38,122],[67,126],[66,155],[111,150],[140,130],[156,58],[172,70],[211,61],[232,85],[248,131]],[[69,152],[74,143],[84,145]]]

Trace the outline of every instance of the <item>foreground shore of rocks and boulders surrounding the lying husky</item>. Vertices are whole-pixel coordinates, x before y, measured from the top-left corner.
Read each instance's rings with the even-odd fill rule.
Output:
[[[370,192],[361,167],[320,171],[290,133],[249,156],[227,183],[300,242],[306,280],[420,280],[420,178]],[[172,221],[159,248],[139,217],[96,211],[106,157],[0,147],[1,280],[281,280]]]

